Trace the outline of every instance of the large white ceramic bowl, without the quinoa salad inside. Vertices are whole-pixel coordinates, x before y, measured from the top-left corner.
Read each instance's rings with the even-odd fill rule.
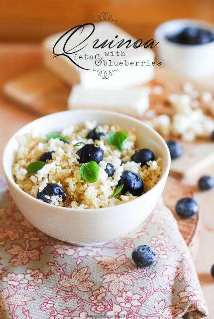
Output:
[[[65,127],[97,120],[99,124],[117,123],[129,130],[136,128],[137,148],[149,148],[156,157],[163,158],[163,173],[157,184],[137,199],[121,205],[99,209],[73,209],[44,203],[19,188],[11,166],[18,148],[16,136],[31,130],[44,133],[60,132]],[[162,137],[134,118],[106,111],[66,111],[35,120],[7,143],[3,153],[3,169],[10,193],[22,214],[42,232],[75,245],[93,245],[124,236],[151,213],[161,196],[170,167],[170,154]]]

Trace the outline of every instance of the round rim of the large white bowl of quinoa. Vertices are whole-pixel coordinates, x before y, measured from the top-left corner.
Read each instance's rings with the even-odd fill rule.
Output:
[[[16,138],[16,136],[19,135],[20,131],[22,131],[24,128],[27,128],[32,125],[32,124],[35,124],[36,122],[39,122],[41,119],[44,119],[44,118],[48,118],[50,116],[54,116],[54,115],[57,115],[57,114],[66,114],[66,113],[79,113],[79,112],[83,112],[83,110],[67,110],[67,111],[62,111],[62,112],[56,112],[56,113],[51,113],[51,114],[48,114],[48,115],[45,115],[45,116],[42,116],[42,117],[39,117],[38,119],[34,120],[34,121],[31,121],[29,123],[27,123],[26,125],[22,126],[18,131],[16,131],[9,139],[9,141],[6,143],[5,147],[4,147],[4,150],[3,150],[3,155],[2,155],[2,166],[3,166],[3,172],[4,172],[4,176],[6,177],[6,180],[9,180],[9,182],[16,188],[16,190],[18,192],[20,192],[23,196],[26,196],[26,198],[32,200],[33,202],[35,202],[35,204],[41,204],[41,205],[45,205],[46,207],[48,208],[53,208],[54,210],[59,210],[59,213],[60,211],[69,211],[70,213],[80,213],[81,211],[83,212],[87,212],[87,213],[91,213],[91,212],[99,212],[101,213],[102,211],[106,211],[107,210],[110,210],[110,209],[115,209],[116,206],[118,205],[130,205],[132,203],[132,200],[131,201],[128,201],[128,202],[124,202],[124,203],[121,203],[121,204],[118,204],[118,205],[113,205],[113,206],[107,206],[107,207],[100,207],[100,208],[72,208],[72,207],[62,207],[62,206],[57,206],[57,205],[51,205],[49,203],[45,203],[41,200],[38,200],[37,198],[29,195],[28,193],[26,193],[24,190],[22,190],[18,184],[16,184],[12,174],[11,176],[8,176],[7,175],[7,166],[6,166],[6,151],[7,151],[7,148],[9,147],[9,144],[12,140],[14,140]],[[135,122],[135,123],[138,123],[140,124],[141,126],[144,126],[146,127],[149,131],[152,132],[152,134],[156,135],[156,137],[160,140],[160,143],[162,143],[162,147],[164,149],[164,151],[166,152],[166,165],[165,165],[165,169],[164,171],[162,172],[161,174],[161,177],[160,179],[158,180],[158,182],[151,188],[149,189],[146,193],[143,193],[142,195],[140,195],[139,197],[137,198],[134,198],[133,200],[139,200],[142,198],[143,195],[146,195],[146,194],[149,194],[153,191],[154,188],[157,187],[157,185],[161,182],[162,179],[164,178],[167,178],[168,174],[169,174],[169,169],[170,169],[170,162],[171,162],[171,157],[170,157],[170,153],[169,153],[169,149],[167,147],[167,144],[166,142],[164,141],[164,139],[162,138],[162,136],[157,133],[153,128],[151,128],[149,125],[147,125],[146,123],[134,118],[134,117],[131,117],[131,116],[128,116],[128,115],[125,115],[125,114],[121,114],[121,113],[118,113],[118,112],[111,112],[111,111],[103,111],[103,110],[93,110],[93,109],[89,109],[89,110],[85,110],[84,112],[88,112],[88,113],[94,113],[94,114],[108,114],[108,115],[111,115],[111,116],[119,116],[123,119],[126,119],[127,121],[132,121],[132,122]],[[11,168],[10,168],[11,169]],[[44,207],[45,207],[44,206]]]

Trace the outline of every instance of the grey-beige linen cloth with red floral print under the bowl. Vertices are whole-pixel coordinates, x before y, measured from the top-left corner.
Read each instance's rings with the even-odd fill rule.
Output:
[[[156,262],[148,268],[131,261],[133,248],[142,244],[156,252]],[[186,243],[162,203],[127,237],[75,247],[34,228],[0,179],[0,319],[207,315]]]

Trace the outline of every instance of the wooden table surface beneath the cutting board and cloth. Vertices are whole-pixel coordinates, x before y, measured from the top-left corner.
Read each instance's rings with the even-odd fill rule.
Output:
[[[40,66],[42,63],[40,47],[37,44],[1,44],[0,45],[0,86],[8,79]],[[9,137],[26,123],[36,119],[9,101],[0,92],[0,173],[2,173],[1,155]],[[214,279],[210,275],[214,263],[214,190],[199,192],[195,186],[199,176],[212,174],[214,165],[199,171],[197,175],[186,178],[183,182],[195,190],[195,198],[200,205],[201,240],[195,265],[202,285],[205,299],[210,311],[210,319],[214,318]]]

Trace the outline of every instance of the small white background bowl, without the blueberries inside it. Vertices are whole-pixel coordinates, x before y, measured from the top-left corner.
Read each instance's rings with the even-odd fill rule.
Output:
[[[197,79],[214,73],[214,41],[207,44],[180,44],[167,40],[184,27],[197,26],[214,32],[214,25],[195,19],[176,19],[155,29],[159,61],[188,78]]]

